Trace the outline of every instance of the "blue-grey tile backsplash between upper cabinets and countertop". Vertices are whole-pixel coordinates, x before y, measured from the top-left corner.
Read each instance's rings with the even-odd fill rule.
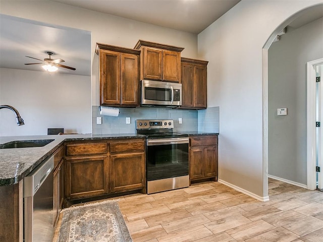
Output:
[[[137,119],[173,119],[174,132],[219,132],[219,107],[203,110],[122,107],[119,111],[117,117],[100,115],[100,107],[92,106],[92,133],[96,135],[135,133]],[[102,117],[101,125],[96,124],[96,117]],[[130,117],[130,124],[126,124],[126,117]],[[179,117],[182,118],[182,124],[178,123]]]

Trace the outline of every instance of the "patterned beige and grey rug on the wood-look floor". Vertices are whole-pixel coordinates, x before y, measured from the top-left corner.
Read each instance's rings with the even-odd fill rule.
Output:
[[[116,201],[90,203],[62,210],[58,242],[131,242]]]

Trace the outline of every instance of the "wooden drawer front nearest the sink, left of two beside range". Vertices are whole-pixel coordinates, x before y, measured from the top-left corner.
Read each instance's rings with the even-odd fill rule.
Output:
[[[106,154],[107,143],[67,144],[66,155],[96,155]]]

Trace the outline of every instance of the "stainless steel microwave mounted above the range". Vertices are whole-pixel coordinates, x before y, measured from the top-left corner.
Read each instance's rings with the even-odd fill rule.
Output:
[[[140,104],[141,106],[181,106],[182,84],[142,80]]]

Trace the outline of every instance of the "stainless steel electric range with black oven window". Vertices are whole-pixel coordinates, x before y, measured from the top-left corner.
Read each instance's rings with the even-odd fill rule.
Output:
[[[147,194],[189,186],[187,134],[173,132],[173,120],[138,119],[138,134],[147,136]]]

